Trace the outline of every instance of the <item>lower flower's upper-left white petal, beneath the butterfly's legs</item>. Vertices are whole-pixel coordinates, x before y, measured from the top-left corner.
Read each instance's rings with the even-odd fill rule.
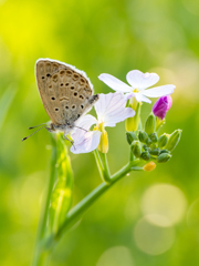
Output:
[[[96,124],[96,119],[86,114],[76,121],[73,132],[71,133],[71,137],[74,142],[80,143],[84,139],[85,133],[90,130],[93,124]]]

